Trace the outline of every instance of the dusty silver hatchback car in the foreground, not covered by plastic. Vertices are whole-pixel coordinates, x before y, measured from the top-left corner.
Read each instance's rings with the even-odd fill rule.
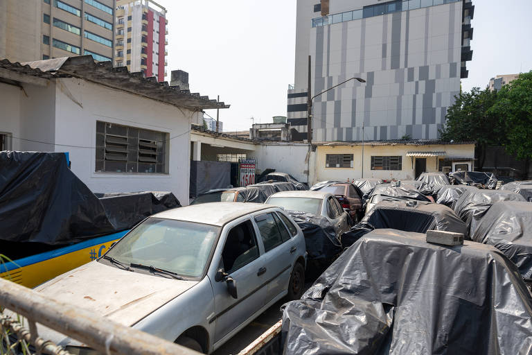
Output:
[[[155,214],[36,291],[208,354],[282,297],[301,297],[305,263],[303,233],[281,209],[214,202]]]

